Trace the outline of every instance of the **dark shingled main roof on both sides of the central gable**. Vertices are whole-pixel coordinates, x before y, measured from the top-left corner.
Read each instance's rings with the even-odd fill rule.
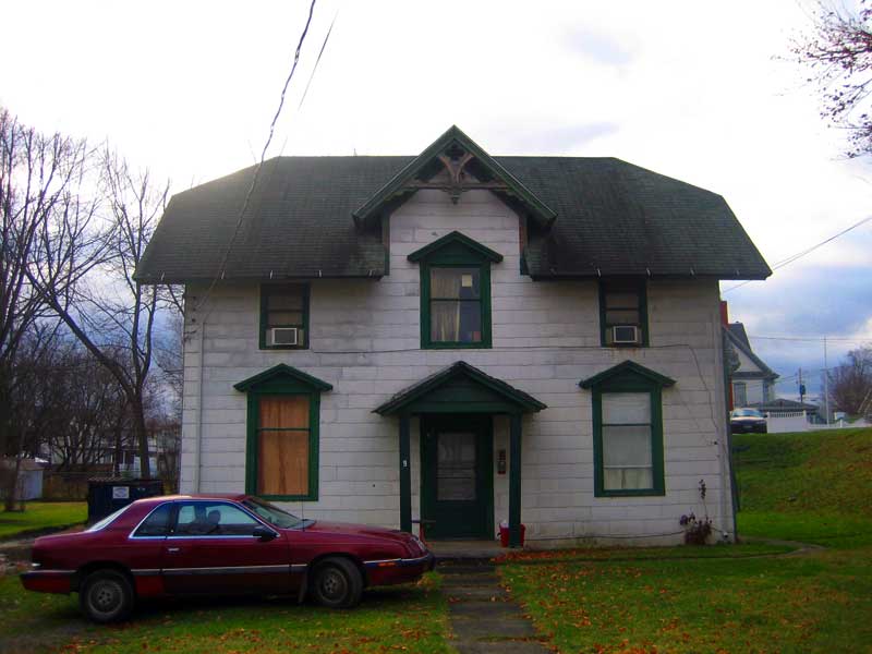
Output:
[[[378,230],[352,213],[414,157],[279,157],[264,164],[226,278],[378,277]],[[614,158],[494,157],[557,214],[530,230],[534,278],[637,275],[764,279],[770,270],[723,197]],[[214,279],[254,168],[173,196],[137,279]],[[460,203],[463,203],[461,197]]]

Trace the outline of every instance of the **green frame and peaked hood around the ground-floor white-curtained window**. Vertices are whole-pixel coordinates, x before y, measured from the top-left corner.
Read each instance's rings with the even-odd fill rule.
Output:
[[[582,388],[591,389],[593,412],[593,460],[594,497],[646,497],[666,495],[663,439],[663,388],[675,384],[673,379],[649,371],[638,364],[625,362],[582,382]],[[603,396],[613,392],[643,392],[651,401],[651,488],[608,489],[605,487],[603,465]],[[645,423],[647,424],[647,423]]]

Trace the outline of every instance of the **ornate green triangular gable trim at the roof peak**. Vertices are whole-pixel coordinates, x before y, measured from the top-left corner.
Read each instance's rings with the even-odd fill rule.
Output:
[[[468,179],[468,167],[474,166],[481,180]],[[439,171],[448,173],[447,182],[431,182]],[[524,186],[514,175],[452,125],[423,153],[415,157],[389,182],[376,191],[363,205],[352,211],[356,223],[377,216],[382,208],[405,195],[423,189],[446,191],[453,203],[464,191],[487,190],[517,198],[530,215],[544,226],[549,226],[557,214]]]

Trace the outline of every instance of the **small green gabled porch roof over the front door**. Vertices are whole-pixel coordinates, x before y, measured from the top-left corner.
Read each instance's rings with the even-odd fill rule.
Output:
[[[543,409],[546,405],[534,397],[458,361],[401,390],[373,413],[530,413]]]

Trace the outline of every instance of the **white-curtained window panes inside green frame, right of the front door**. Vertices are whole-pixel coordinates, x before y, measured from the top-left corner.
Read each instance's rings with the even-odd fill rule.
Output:
[[[649,392],[602,395],[603,488],[654,487],[652,411]]]

